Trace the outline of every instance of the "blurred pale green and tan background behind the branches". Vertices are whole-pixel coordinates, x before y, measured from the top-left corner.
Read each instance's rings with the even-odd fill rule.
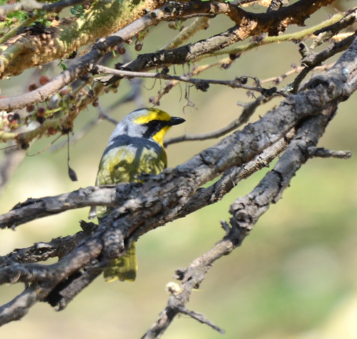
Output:
[[[351,3],[346,3],[346,7]],[[306,24],[317,23],[333,13],[333,8],[324,8]],[[211,20],[207,31],[200,32],[192,41],[230,26],[227,18],[217,17]],[[296,30],[298,28],[292,26],[287,33]],[[140,53],[160,49],[176,33],[167,29],[167,23],[151,28]],[[137,54],[133,46],[127,49],[132,55]],[[299,59],[293,43],[261,46],[243,54],[230,69],[213,68],[200,77],[234,79],[250,75],[262,80],[285,73],[291,64],[299,65]],[[200,64],[212,60],[202,60]],[[187,70],[187,65],[176,67],[177,74]],[[173,74],[172,69],[170,73]],[[32,77],[32,70],[11,80],[2,80],[1,93],[7,96],[23,93],[23,83],[29,77]],[[290,77],[282,85],[292,80]],[[157,94],[160,83],[154,84],[152,80],[144,83],[144,102],[150,106],[149,97]],[[273,84],[268,83],[268,86]],[[123,80],[116,94],[101,97],[99,103],[106,109],[130,90],[129,80]],[[204,133],[223,127],[240,114],[237,101],[250,100],[244,90],[212,85],[203,93],[193,87],[190,100],[196,107],[186,107],[183,113],[184,94],[185,85],[182,84],[161,99],[159,108],[187,120],[173,128],[169,137],[184,131]],[[356,98],[354,94],[340,104],[319,146],[348,149],[356,154]],[[261,107],[252,120],[278,102],[275,100]],[[128,103],[111,113],[120,120],[136,108],[134,103]],[[94,107],[82,112],[76,120],[75,136],[97,114]],[[26,157],[0,193],[0,213],[29,197],[57,195],[93,185],[101,154],[113,129],[114,125],[103,121],[71,145],[70,165],[77,172],[77,182],[71,182],[67,175],[66,147]],[[29,154],[51,141],[42,138]],[[214,143],[215,140],[169,146],[169,166],[186,161]],[[271,206],[243,245],[216,262],[200,290],[193,292],[187,307],[204,313],[225,329],[225,338],[357,338],[356,168],[355,157],[347,161],[308,161],[298,171],[283,199]],[[99,277],[64,311],[56,312],[48,304],[39,303],[20,322],[3,326],[1,338],[140,338],[165,308],[169,298],[165,285],[174,281],[175,269],[186,267],[222,238],[220,220],[228,220],[230,203],[250,192],[267,170],[239,183],[221,202],[143,236],[137,243],[139,271],[135,283],[104,283]],[[16,231],[2,230],[0,255],[34,242],[73,234],[80,230],[78,221],[87,220],[88,212],[89,208],[69,211],[19,226]],[[20,284],[1,286],[0,303],[11,300],[22,288]],[[208,326],[180,316],[164,338],[185,337],[222,338]]]

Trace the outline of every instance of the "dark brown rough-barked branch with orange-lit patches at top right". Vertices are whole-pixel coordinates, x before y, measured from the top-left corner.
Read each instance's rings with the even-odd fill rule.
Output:
[[[236,26],[227,31],[212,36],[211,38],[197,41],[196,43],[181,46],[179,48],[147,53],[139,57],[130,64],[124,65],[126,70],[137,72],[140,70],[151,69],[161,65],[185,64],[201,55],[212,54],[238,41],[254,35],[268,33],[268,35],[278,35],[285,31],[288,25],[303,25],[308,15],[311,15],[322,6],[332,3],[333,0],[311,1],[300,0],[288,7],[270,13],[253,14],[246,12],[234,5],[223,3],[210,3],[202,1],[190,1],[190,6],[200,11],[200,15],[226,14]],[[204,5],[202,5],[204,4]],[[199,8],[199,9],[198,9]],[[195,13],[193,11],[193,13]],[[120,77],[113,76],[107,79],[107,84],[112,84],[120,80]]]

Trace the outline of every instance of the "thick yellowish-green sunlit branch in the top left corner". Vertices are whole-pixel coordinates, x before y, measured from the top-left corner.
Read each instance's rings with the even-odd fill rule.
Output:
[[[20,74],[25,69],[56,59],[64,59],[73,51],[80,50],[97,39],[115,35],[113,32],[123,27],[125,30],[126,27],[133,26],[136,21],[141,23],[146,21],[146,25],[155,22],[157,24],[161,21],[160,16],[151,20],[149,16],[145,18],[142,15],[159,8],[165,2],[167,0],[139,2],[122,0],[109,3],[99,1],[94,2],[82,17],[65,18],[59,22],[59,25],[50,27],[39,24],[36,27],[24,28],[16,37],[2,45],[0,78]],[[162,16],[164,13],[160,14]],[[78,30],[79,26],[82,27],[80,30]],[[137,27],[139,28],[140,25]],[[140,31],[141,29],[133,32],[131,36]]]

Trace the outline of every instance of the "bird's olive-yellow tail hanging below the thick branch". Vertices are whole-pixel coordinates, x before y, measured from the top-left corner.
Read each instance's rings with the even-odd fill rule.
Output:
[[[114,259],[110,267],[104,270],[104,280],[107,283],[119,279],[119,281],[134,281],[136,278],[137,260],[135,254],[135,242],[121,257]]]

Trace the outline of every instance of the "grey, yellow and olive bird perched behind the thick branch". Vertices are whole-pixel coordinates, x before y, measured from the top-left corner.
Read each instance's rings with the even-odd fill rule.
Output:
[[[142,175],[161,173],[167,167],[164,137],[172,126],[185,119],[171,117],[156,108],[141,108],[127,114],[114,129],[99,163],[95,185],[142,182]],[[111,207],[92,207],[89,218],[99,223],[110,214]],[[137,271],[135,242],[121,257],[104,270],[107,282],[134,281]]]

